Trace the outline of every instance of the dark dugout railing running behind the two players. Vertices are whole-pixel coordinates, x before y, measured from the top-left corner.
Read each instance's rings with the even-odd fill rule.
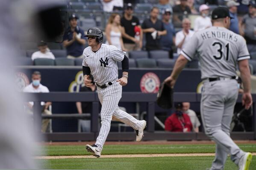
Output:
[[[86,96],[86,97],[85,97]],[[40,125],[42,118],[82,118],[87,115],[78,114],[53,114],[41,115],[41,101],[52,102],[76,102],[85,101],[92,102],[91,113],[91,132],[63,132],[63,133],[43,133],[45,141],[94,141],[97,138],[99,129],[99,106],[100,102],[95,92],[50,92],[50,93],[24,93],[26,101],[34,101],[34,130],[41,133]],[[201,95],[194,92],[176,92],[174,93],[175,102],[200,102]],[[256,94],[253,94],[256,98]],[[147,103],[147,128],[144,133],[143,140],[209,140],[204,133],[171,133],[164,131],[155,131],[155,101],[156,94],[141,93],[141,92],[123,92],[121,102],[145,102]],[[241,95],[238,96],[238,101],[241,102]],[[253,132],[231,132],[231,137],[237,140],[255,140],[256,139],[256,103],[253,102]],[[133,141],[135,133],[133,132],[110,132],[107,138],[108,141]]]

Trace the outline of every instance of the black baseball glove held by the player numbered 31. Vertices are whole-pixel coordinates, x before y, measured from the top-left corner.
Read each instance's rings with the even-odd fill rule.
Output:
[[[173,88],[163,82],[157,93],[157,105],[163,109],[171,109],[173,106],[173,94]]]

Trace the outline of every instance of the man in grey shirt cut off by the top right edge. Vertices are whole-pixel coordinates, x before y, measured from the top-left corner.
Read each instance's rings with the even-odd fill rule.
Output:
[[[240,23],[240,35],[243,35],[247,44],[256,44],[256,3],[250,2],[249,12],[244,15]]]

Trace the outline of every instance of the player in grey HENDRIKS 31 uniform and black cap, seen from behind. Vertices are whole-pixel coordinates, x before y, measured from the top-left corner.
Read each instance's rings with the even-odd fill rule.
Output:
[[[211,170],[223,170],[227,154],[238,165],[239,170],[248,170],[251,153],[242,151],[230,138],[230,123],[238,96],[236,63],[244,84],[242,103],[245,109],[252,104],[250,94],[250,55],[245,40],[231,32],[229,10],[217,7],[212,12],[213,26],[196,32],[190,42],[182,49],[171,75],[165,82],[171,87],[188,61],[197,53],[201,64],[203,92],[201,116],[205,133],[216,143],[215,159]]]

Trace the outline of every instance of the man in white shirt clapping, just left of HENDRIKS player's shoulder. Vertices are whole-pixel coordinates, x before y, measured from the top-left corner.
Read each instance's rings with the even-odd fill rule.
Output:
[[[180,54],[181,50],[184,48],[185,44],[194,35],[194,31],[190,30],[191,22],[188,18],[182,20],[182,30],[177,32],[175,37],[175,45],[177,46],[177,53]]]

